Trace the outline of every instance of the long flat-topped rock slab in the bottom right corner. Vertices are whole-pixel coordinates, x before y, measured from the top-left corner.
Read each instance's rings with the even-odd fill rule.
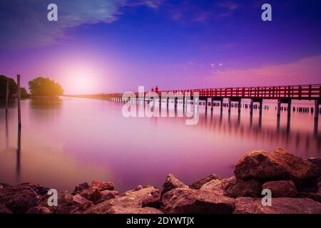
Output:
[[[272,206],[263,206],[262,199],[235,199],[235,214],[321,214],[321,204],[307,198],[272,198]]]

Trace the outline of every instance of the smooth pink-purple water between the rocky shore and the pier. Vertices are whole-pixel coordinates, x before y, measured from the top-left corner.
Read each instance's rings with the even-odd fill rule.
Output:
[[[321,127],[313,114],[292,112],[288,120],[282,112],[278,124],[275,102],[263,103],[269,109],[262,118],[258,110],[250,118],[245,108],[240,115],[232,108],[228,115],[227,108],[220,113],[215,107],[205,115],[200,106],[197,125],[185,125],[185,118],[124,118],[122,105],[81,98],[23,100],[19,137],[16,104],[7,118],[1,104],[0,182],[71,191],[78,183],[101,180],[123,191],[161,187],[168,173],[186,184],[211,173],[230,177],[238,158],[251,150],[285,147],[300,157],[321,157]]]

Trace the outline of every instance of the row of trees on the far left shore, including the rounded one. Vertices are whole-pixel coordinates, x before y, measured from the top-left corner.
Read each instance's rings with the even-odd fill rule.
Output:
[[[0,99],[6,98],[6,83],[9,81],[9,98],[16,95],[18,87],[14,79],[7,76],[0,75]],[[38,77],[29,81],[30,94],[26,91],[26,88],[20,88],[21,98],[34,97],[57,97],[63,95],[63,88],[59,83],[51,80],[50,78]]]

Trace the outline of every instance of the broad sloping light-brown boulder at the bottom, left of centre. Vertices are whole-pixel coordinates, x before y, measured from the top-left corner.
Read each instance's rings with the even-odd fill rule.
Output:
[[[155,187],[145,187],[141,190],[131,190],[122,195],[118,195],[113,199],[108,199],[104,202],[94,205],[87,209],[85,214],[114,214],[114,213],[138,213],[147,209],[142,209],[146,200],[160,200],[160,193]],[[146,208],[146,207],[144,207]],[[156,212],[151,209],[150,211]]]

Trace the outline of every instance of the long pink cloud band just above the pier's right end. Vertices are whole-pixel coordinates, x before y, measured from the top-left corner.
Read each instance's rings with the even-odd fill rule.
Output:
[[[218,86],[282,86],[321,83],[321,56],[246,70],[218,71],[206,77]]]

